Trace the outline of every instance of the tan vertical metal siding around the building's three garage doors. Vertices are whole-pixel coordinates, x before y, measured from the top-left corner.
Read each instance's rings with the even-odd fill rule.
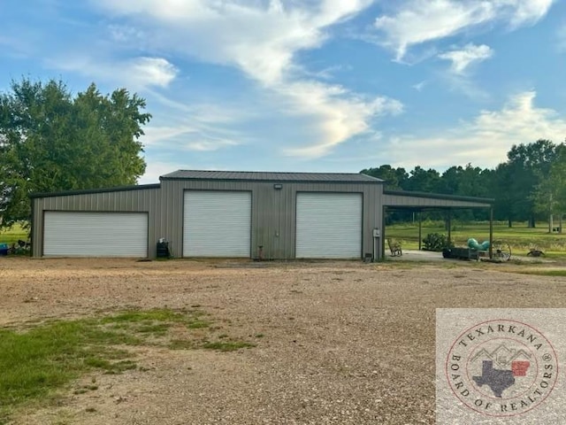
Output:
[[[273,184],[281,184],[274,189]],[[134,211],[149,213],[149,257],[156,255],[160,237],[169,241],[174,257],[182,257],[183,193],[192,190],[252,192],[251,254],[259,245],[265,259],[294,259],[297,191],[362,192],[362,252],[373,251],[372,229],[382,222],[383,186],[375,183],[229,182],[164,180],[161,188],[119,190],[34,198],[34,257],[42,256],[43,211]]]

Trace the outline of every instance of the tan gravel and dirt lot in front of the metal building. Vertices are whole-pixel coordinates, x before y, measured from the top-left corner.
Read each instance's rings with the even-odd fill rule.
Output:
[[[238,352],[139,348],[142,369],[15,423],[434,423],[436,307],[566,306],[565,278],[519,267],[0,258],[3,327],[201,305],[232,336],[263,334]]]

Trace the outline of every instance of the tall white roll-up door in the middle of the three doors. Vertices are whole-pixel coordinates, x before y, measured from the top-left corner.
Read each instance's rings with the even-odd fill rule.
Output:
[[[251,192],[185,192],[184,257],[251,255]]]

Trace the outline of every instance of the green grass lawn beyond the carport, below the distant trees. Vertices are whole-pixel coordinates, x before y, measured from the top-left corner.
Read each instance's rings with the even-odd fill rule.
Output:
[[[423,221],[422,237],[429,233],[447,235],[442,221]],[[402,241],[404,249],[418,249],[418,222],[386,226],[386,236]],[[489,240],[489,222],[452,222],[452,242],[455,246],[467,246],[468,239],[473,237],[482,243]],[[546,223],[537,223],[536,228],[527,228],[526,222],[513,223],[509,228],[507,221],[493,222],[493,241],[509,243],[511,251],[526,254],[529,249],[544,251],[550,257],[566,256],[566,232],[548,233]],[[423,244],[424,246],[424,244]]]

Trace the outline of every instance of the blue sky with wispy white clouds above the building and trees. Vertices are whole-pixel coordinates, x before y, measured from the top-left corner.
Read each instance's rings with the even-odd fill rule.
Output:
[[[12,79],[125,87],[141,182],[184,169],[493,167],[566,137],[560,0],[1,0]]]

